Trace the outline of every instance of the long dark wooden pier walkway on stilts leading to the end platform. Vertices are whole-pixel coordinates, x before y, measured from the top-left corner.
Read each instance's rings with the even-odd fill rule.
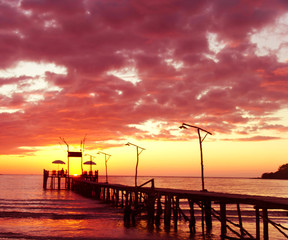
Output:
[[[283,239],[288,238],[288,229],[273,222],[268,215],[268,211],[275,209],[288,210],[286,198],[155,188],[153,179],[147,183],[151,183],[151,187],[143,187],[146,183],[143,186],[132,187],[73,178],[71,189],[85,197],[123,208],[124,223],[128,225],[135,224],[138,217],[146,217],[149,226],[159,227],[161,222],[164,222],[165,230],[169,231],[173,224],[174,230],[177,231],[179,221],[184,219],[188,222],[190,234],[193,235],[197,222],[195,211],[200,209],[203,235],[211,232],[213,221],[216,220],[221,225],[221,239],[268,240],[269,224],[283,235]],[[183,202],[188,203],[188,214],[181,207]],[[219,210],[215,210],[212,204],[219,206]],[[227,216],[227,206],[231,205],[235,205],[237,223],[232,222]],[[254,207],[253,233],[249,233],[243,226],[241,205]]]

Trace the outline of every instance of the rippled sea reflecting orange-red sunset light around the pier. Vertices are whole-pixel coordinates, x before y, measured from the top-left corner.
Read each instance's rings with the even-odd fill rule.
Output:
[[[154,178],[155,187],[201,190],[198,177],[138,177],[138,185]],[[105,176],[99,181],[105,182]],[[133,176],[109,176],[109,183],[134,185]],[[288,197],[288,180],[248,178],[205,178],[208,191],[248,194],[258,196]],[[189,216],[188,203],[180,202]],[[212,205],[219,211],[217,203]],[[243,227],[255,236],[255,210],[253,206],[240,205]],[[0,175],[0,239],[209,239],[220,238],[220,223],[213,218],[212,231],[202,234],[201,210],[195,208],[196,233],[191,235],[189,223],[179,221],[177,231],[171,223],[165,229],[148,226],[145,217],[135,225],[124,225],[123,209],[113,208],[101,201],[88,199],[68,190],[43,190],[42,175]],[[239,223],[236,206],[227,206],[228,219]],[[284,227],[288,234],[288,211],[269,210],[269,218]],[[261,225],[261,239],[263,239]],[[228,231],[229,233],[229,231]],[[231,233],[232,234],[232,233]],[[234,236],[233,234],[231,236]],[[269,224],[269,239],[287,239]]]

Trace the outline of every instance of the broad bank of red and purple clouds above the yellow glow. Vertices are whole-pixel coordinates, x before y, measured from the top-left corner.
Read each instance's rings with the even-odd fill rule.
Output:
[[[167,128],[182,121],[251,133],[261,118],[279,124],[272,115],[287,108],[287,62],[251,40],[283,19],[283,1],[22,0],[0,9],[0,71],[12,69],[0,87],[14,86],[0,91],[5,153],[59,136],[149,138],[132,127],[147,121],[167,123],[161,139],[181,138]],[[35,67],[19,75],[19,62]],[[45,88],[33,88],[40,81]]]

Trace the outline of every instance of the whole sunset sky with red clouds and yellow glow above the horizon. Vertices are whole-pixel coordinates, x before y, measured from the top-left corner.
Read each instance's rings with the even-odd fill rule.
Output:
[[[288,162],[286,0],[0,0],[0,34],[2,174],[66,169],[64,139],[100,174],[134,175],[131,142],[138,175],[200,176],[182,123],[205,176]]]

